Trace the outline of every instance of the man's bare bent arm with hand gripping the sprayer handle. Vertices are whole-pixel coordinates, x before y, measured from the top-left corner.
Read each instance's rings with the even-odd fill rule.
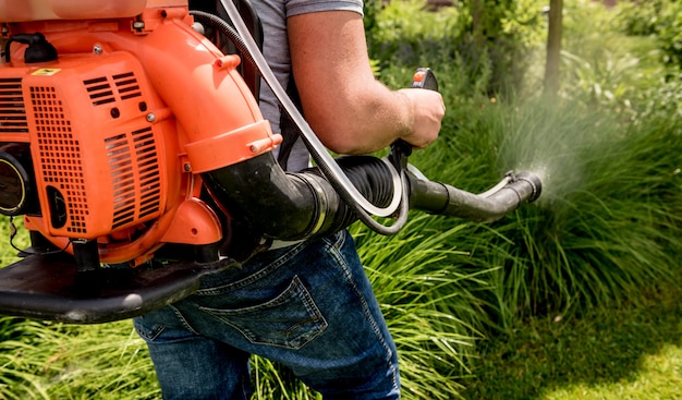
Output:
[[[303,111],[329,149],[367,154],[402,138],[416,148],[438,137],[444,106],[426,89],[391,90],[372,73],[362,16],[327,11],[288,20]]]

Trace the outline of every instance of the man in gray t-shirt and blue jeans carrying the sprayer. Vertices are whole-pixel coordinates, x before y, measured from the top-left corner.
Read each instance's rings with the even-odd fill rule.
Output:
[[[441,96],[375,80],[361,0],[253,0],[264,54],[295,81],[306,120],[329,149],[372,153],[402,138],[435,141]],[[264,116],[280,132],[264,87]],[[296,143],[287,168],[307,167]],[[398,399],[395,346],[348,232],[257,254],[208,276],[196,294],[135,319],[167,399],[248,399],[248,357],[289,368],[325,399]]]

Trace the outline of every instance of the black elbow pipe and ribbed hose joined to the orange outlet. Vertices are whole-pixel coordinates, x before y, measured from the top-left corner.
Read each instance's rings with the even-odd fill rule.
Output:
[[[370,156],[336,159],[368,201],[387,206],[390,167]],[[301,240],[339,231],[358,219],[317,168],[284,172],[271,153],[203,175],[211,195],[267,238]]]

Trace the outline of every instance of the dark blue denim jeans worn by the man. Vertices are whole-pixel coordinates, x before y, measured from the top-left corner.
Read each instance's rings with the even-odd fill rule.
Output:
[[[345,231],[207,276],[134,319],[165,399],[248,399],[249,354],[325,399],[399,399],[395,346]]]

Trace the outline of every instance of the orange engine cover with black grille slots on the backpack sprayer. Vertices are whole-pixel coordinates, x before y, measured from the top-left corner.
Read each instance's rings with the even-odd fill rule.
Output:
[[[181,172],[174,123],[132,54],[0,69],[0,113],[24,121],[46,233],[92,240],[166,210]]]

